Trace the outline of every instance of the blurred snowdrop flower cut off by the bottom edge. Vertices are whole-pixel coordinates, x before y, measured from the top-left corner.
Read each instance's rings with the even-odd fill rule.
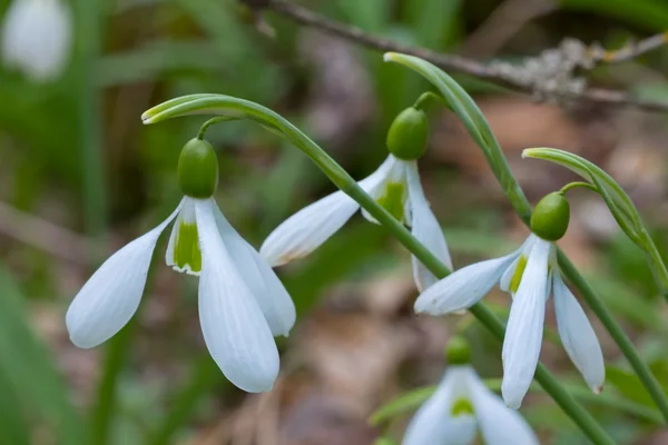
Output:
[[[487,445],[539,445],[522,416],[484,386],[466,349],[458,345],[453,353],[453,343],[448,348],[450,367],[411,419],[402,444],[470,445],[480,432]]]

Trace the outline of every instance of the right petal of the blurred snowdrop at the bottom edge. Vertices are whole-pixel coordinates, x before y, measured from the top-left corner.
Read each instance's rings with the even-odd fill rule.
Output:
[[[527,421],[490,392],[471,369],[469,387],[478,427],[487,445],[540,445]]]

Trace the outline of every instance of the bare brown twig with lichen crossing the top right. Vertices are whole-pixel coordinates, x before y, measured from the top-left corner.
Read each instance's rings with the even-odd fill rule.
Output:
[[[668,40],[666,33],[651,37],[619,51],[606,51],[600,47],[588,48],[577,40],[567,39],[560,49],[547,50],[538,58],[528,59],[524,66],[512,66],[501,61],[493,61],[488,65],[465,57],[440,53],[373,36],[360,28],[330,20],[286,0],[239,1],[255,10],[271,10],[299,24],[318,29],[371,49],[416,56],[444,70],[459,71],[490,80],[515,91],[532,93],[542,99],[630,106],[648,111],[668,111],[668,103],[666,102],[640,99],[625,91],[586,88],[584,79],[573,77],[576,69],[590,69],[599,62],[623,61],[652,50]],[[573,42],[579,43],[579,46],[573,44]],[[573,52],[576,53],[574,58],[572,57]]]

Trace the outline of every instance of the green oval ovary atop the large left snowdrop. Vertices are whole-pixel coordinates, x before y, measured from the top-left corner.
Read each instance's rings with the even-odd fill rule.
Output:
[[[193,198],[210,198],[218,187],[218,159],[206,140],[191,139],[178,157],[178,187]]]

